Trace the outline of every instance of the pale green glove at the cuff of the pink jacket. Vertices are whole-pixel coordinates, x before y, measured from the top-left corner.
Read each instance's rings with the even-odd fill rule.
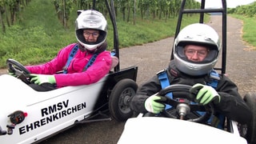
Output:
[[[30,74],[30,82],[41,85],[42,83],[56,83],[54,75]]]

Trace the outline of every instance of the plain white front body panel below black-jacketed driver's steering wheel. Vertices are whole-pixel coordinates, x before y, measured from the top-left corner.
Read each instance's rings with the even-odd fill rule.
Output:
[[[232,134],[212,126],[174,118],[129,118],[118,140],[125,143],[237,143],[246,144],[239,134]]]

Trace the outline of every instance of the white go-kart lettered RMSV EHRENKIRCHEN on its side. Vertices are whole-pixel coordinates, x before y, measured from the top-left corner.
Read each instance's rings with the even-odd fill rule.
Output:
[[[136,66],[110,71],[91,85],[38,92],[27,85],[24,66],[14,59],[7,65],[18,78],[0,75],[0,143],[40,142],[78,123],[126,121],[133,116],[129,102],[138,88]]]

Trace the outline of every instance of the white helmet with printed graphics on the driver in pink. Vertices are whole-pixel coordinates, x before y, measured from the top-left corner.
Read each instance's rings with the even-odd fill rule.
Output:
[[[97,42],[86,42],[83,36],[83,30],[94,29],[99,30]],[[95,50],[106,41],[107,22],[102,13],[97,10],[84,10],[75,21],[75,35],[78,42],[86,48],[86,50]]]

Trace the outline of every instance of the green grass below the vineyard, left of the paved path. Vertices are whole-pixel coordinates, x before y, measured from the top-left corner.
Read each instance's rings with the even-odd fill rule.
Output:
[[[31,1],[25,10],[20,12],[20,19],[15,26],[7,27],[6,34],[0,32],[0,68],[6,68],[6,59],[14,58],[23,65],[34,65],[47,62],[62,47],[77,42],[74,35],[74,20],[77,9],[71,13],[69,29],[64,30],[58,21],[51,1]],[[177,18],[141,20],[138,16],[136,24],[124,22],[122,14],[117,14],[119,48],[142,45],[163,38],[174,36]],[[120,17],[119,17],[120,16]],[[114,47],[113,27],[110,18],[106,17],[108,26],[108,50]],[[209,17],[206,16],[206,22]],[[182,27],[198,22],[198,15],[183,16]]]

